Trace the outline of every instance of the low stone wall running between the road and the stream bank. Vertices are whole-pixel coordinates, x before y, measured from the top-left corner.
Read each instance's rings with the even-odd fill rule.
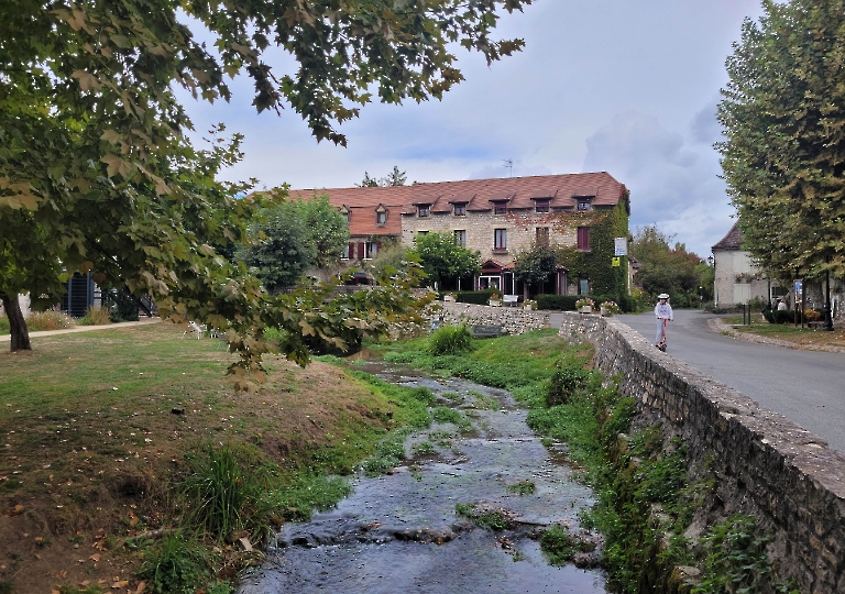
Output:
[[[567,312],[560,333],[595,345],[595,363],[619,374],[640,410],[669,421],[716,492],[698,524],[742,513],[771,532],[770,559],[801,593],[845,593],[845,455],[786,417],[659,352],[613,318]]]

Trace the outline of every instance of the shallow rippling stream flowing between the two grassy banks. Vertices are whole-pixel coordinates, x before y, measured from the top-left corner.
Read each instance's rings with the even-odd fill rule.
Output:
[[[545,527],[557,522],[577,532],[578,512],[593,499],[572,481],[563,455],[528,428],[508,392],[384,363],[358,369],[429,388],[435,406],[460,410],[472,429],[432,424],[409,436],[405,465],[362,475],[336,509],[285,525],[266,562],[243,576],[240,594],[606,592],[600,570],[552,566],[540,551]],[[520,495],[514,486],[520,482],[536,491]],[[504,509],[508,528],[485,529],[458,515],[456,504]],[[579,564],[593,564],[596,554],[580,553]]]

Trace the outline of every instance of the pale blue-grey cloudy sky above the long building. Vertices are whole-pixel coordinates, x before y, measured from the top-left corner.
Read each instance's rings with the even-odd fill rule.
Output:
[[[340,128],[347,147],[317,143],[290,109],[255,113],[244,76],[229,103],[183,99],[198,132],[224,122],[244,134],[227,179],[333,188],[394,165],[408,183],[606,170],[630,190],[632,233],[656,224],[706,257],[734,223],[713,147],[725,59],[760,13],[759,0],[537,0],[496,29],[523,52],[487,67],[458,48],[463,82],[441,101],[364,107]],[[267,59],[277,74],[295,66]]]

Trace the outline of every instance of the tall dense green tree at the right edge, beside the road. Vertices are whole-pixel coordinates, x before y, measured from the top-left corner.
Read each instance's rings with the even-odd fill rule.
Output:
[[[747,248],[776,276],[845,274],[845,11],[764,2],[727,59],[722,168]]]

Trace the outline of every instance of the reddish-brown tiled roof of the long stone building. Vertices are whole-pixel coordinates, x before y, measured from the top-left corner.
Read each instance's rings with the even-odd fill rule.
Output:
[[[542,175],[533,177],[502,177],[437,182],[413,186],[369,188],[327,188],[290,190],[293,198],[308,199],[317,193],[328,194],[329,201],[350,210],[352,235],[398,235],[402,217],[414,215],[420,206],[432,213],[451,212],[454,204],[464,204],[471,212],[493,209],[496,202],[506,202],[508,210],[534,209],[535,201],[548,199],[551,210],[573,209],[577,198],[590,197],[591,205],[615,206],[625,196],[625,186],[606,172]],[[387,223],[375,226],[375,208],[384,205]]]

